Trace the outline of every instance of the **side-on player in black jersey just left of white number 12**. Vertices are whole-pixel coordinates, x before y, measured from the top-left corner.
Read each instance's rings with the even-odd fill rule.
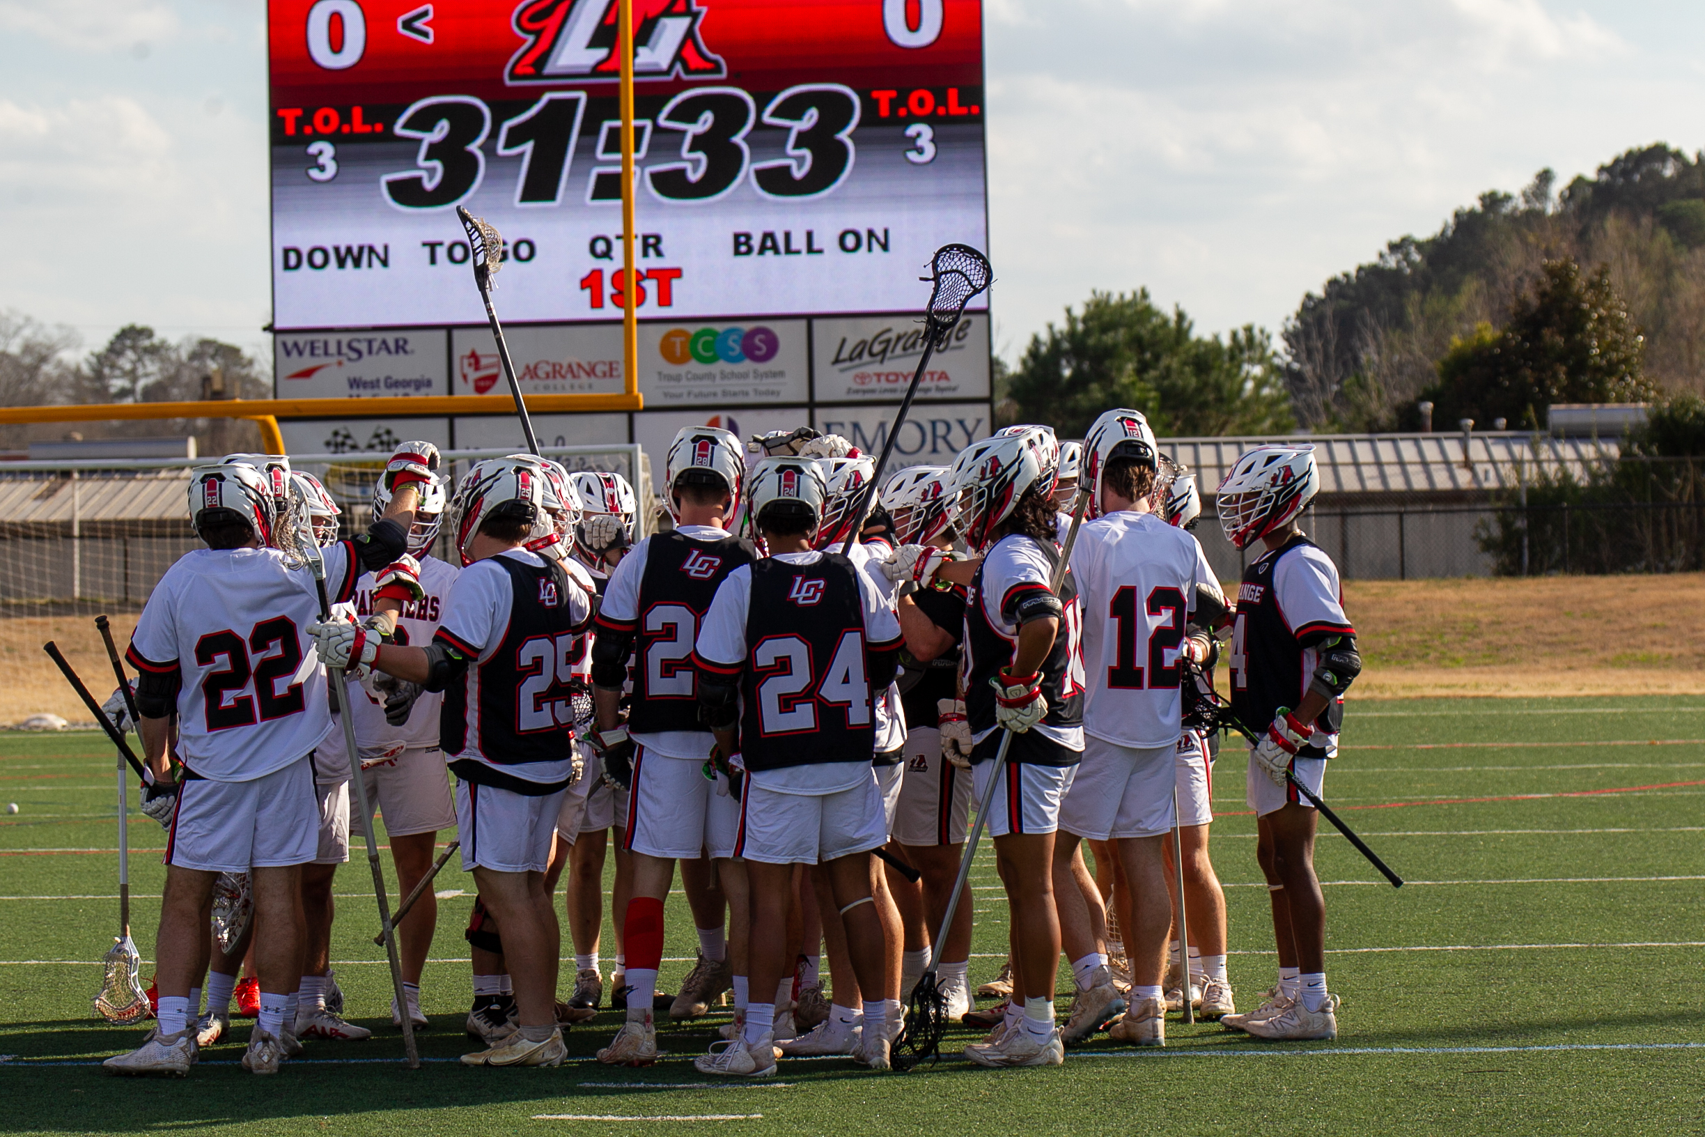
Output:
[[[974,793],[996,779],[989,817],[1011,907],[1013,1001],[989,1040],[965,1048],[980,1065],[1059,1065],[1054,970],[1054,834],[1083,753],[1079,607],[1067,573],[1059,593],[1054,545],[1054,445],[1040,430],[985,438],[953,460],[953,525],[982,561],[965,598],[965,707],[975,748]],[[1003,731],[1011,748],[994,757]]]

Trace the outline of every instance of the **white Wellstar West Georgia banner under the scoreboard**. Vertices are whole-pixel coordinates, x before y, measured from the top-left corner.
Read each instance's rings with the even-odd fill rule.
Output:
[[[280,332],[278,399],[396,399],[450,394],[445,331]]]

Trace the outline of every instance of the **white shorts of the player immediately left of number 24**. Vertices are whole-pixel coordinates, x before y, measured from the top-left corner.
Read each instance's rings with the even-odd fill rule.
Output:
[[[634,747],[622,847],[675,861],[738,856],[740,801],[716,789],[718,782],[704,776],[702,759],[673,759]]]

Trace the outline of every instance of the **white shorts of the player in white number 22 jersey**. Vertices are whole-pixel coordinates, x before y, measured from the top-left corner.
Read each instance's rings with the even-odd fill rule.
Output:
[[[309,864],[319,847],[319,794],[307,755],[247,782],[191,777],[177,791],[165,864],[203,873]]]

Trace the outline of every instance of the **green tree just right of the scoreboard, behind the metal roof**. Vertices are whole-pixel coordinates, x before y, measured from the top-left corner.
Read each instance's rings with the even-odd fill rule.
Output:
[[[1294,426],[1269,334],[1197,336],[1183,309],[1168,315],[1146,288],[1093,291],[1083,312],[1032,336],[1008,390],[1020,421],[1078,438],[1110,407],[1149,416],[1159,436],[1270,435]]]

